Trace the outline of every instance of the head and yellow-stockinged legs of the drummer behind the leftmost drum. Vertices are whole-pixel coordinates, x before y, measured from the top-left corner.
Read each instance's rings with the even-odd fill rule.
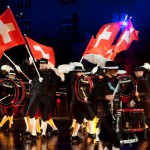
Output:
[[[16,72],[14,70],[10,70],[8,73],[8,78],[10,80],[15,80],[16,79]],[[9,121],[9,130],[12,130],[12,125],[13,125],[13,115],[14,115],[14,107],[8,107],[8,108],[4,108],[4,117],[2,118],[1,122],[0,122],[0,129],[2,129],[3,125],[7,122],[7,120]]]

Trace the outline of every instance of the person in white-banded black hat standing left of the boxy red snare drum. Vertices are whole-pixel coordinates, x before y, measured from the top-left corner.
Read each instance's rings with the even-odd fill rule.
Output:
[[[115,98],[115,88],[116,88],[116,78],[119,69],[118,64],[115,61],[106,61],[105,67],[106,73],[106,83],[103,87],[103,100],[101,100],[101,132],[99,138],[102,142],[108,142],[109,144],[105,146],[105,149],[120,150],[120,143],[117,138],[117,134],[114,130],[114,118],[112,113],[112,108],[110,104],[113,104]]]

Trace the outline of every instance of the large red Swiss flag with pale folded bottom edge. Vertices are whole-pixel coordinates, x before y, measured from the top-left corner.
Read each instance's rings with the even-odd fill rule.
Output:
[[[92,46],[86,49],[83,53],[83,58],[91,63],[104,66],[108,60],[107,55],[110,52],[112,43],[122,27],[122,24],[123,21],[103,25],[97,33],[96,38],[91,39]]]

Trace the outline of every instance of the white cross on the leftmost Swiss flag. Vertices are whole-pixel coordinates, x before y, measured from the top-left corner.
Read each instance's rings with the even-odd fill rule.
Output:
[[[12,23],[7,23],[4,24],[1,20],[0,20],[0,35],[2,35],[3,41],[4,43],[9,43],[11,42],[11,38],[9,36],[9,32],[15,30],[15,27],[13,26]]]

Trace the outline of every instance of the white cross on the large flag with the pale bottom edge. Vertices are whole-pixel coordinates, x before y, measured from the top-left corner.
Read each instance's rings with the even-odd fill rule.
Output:
[[[108,26],[104,29],[104,31],[98,36],[98,39],[97,39],[97,41],[96,41],[94,47],[97,47],[97,46],[98,46],[98,44],[99,44],[99,42],[101,41],[101,39],[108,40],[108,39],[110,38],[112,32],[108,32],[108,31],[107,31],[110,26],[111,26],[111,25],[108,25]]]

